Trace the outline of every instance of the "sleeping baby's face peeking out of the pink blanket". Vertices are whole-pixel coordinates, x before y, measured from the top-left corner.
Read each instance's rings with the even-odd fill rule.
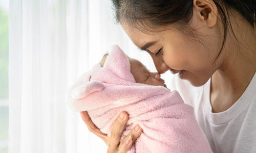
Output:
[[[147,68],[138,60],[129,58],[131,64],[131,73],[136,81],[136,83],[142,83],[153,86],[164,86],[164,80],[160,78],[160,74],[155,72],[150,72]]]

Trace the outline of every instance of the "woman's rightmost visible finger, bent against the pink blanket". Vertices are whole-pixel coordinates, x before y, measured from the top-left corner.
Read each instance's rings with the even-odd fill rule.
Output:
[[[122,150],[122,151],[128,151],[130,149],[130,147],[132,146],[132,144],[135,142],[135,140],[141,135],[142,133],[142,129],[141,127],[137,124],[133,130],[126,136],[124,137],[121,142],[120,142],[120,145],[119,145],[119,150]],[[130,145],[130,138],[131,138],[131,145]]]

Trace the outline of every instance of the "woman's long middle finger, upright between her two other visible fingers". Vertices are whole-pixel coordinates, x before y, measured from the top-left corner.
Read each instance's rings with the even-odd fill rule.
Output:
[[[118,118],[115,120],[115,122],[112,126],[111,135],[110,135],[110,143],[109,143],[108,152],[116,152],[117,151],[117,149],[119,147],[122,132],[125,129],[125,124],[127,122],[127,119],[128,119],[128,114],[126,112],[121,112],[119,114]]]

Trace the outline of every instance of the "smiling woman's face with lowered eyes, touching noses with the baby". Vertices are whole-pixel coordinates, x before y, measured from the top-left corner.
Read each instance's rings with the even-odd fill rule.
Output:
[[[159,73],[170,70],[179,73],[180,79],[188,80],[193,86],[201,86],[221,63],[220,57],[214,64],[222,44],[221,32],[217,26],[208,28],[205,24],[193,17],[190,26],[196,29],[196,38],[174,27],[149,34],[129,25],[122,24],[122,27],[135,45],[151,55]]]

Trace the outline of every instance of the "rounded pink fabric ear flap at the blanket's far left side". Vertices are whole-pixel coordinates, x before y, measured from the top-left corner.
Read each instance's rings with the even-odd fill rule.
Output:
[[[89,81],[86,84],[82,84],[73,89],[71,96],[73,99],[80,99],[87,96],[90,93],[101,91],[104,89],[104,85],[99,81]]]

